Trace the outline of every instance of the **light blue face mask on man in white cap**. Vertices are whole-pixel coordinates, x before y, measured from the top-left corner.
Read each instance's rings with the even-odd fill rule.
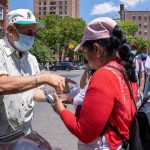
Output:
[[[34,36],[19,34],[19,40],[14,41],[14,46],[17,48],[17,50],[25,52],[32,47],[32,45],[34,44],[34,40]]]

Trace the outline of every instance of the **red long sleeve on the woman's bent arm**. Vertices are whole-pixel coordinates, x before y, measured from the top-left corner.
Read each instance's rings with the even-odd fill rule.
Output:
[[[105,71],[95,73],[90,81],[80,117],[68,110],[60,113],[66,127],[84,143],[90,143],[102,133],[114,106],[118,84],[115,75]]]

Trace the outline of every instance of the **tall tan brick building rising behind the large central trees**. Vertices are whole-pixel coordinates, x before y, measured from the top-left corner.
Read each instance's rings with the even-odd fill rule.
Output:
[[[79,0],[34,0],[34,14],[41,19],[48,14],[79,17]]]

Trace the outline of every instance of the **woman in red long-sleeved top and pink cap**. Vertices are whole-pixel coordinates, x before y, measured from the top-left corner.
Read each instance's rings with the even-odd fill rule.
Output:
[[[130,46],[122,30],[110,18],[90,22],[75,50],[82,49],[88,62],[97,70],[90,79],[87,92],[76,117],[56,96],[56,109],[68,128],[79,139],[79,150],[116,150],[122,147],[135,114],[135,106],[122,74],[108,65],[126,71],[134,98],[137,98],[135,64]]]

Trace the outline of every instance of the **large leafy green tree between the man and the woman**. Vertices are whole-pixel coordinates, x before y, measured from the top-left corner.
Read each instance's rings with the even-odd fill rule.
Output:
[[[85,22],[82,19],[62,18],[58,15],[45,16],[40,22],[45,25],[45,28],[37,32],[37,40],[31,52],[40,61],[43,61],[44,57],[50,61],[50,58],[54,58],[54,55],[57,54],[61,58],[70,54],[73,55],[74,52],[69,49],[69,44],[76,46],[80,42],[86,25]]]

